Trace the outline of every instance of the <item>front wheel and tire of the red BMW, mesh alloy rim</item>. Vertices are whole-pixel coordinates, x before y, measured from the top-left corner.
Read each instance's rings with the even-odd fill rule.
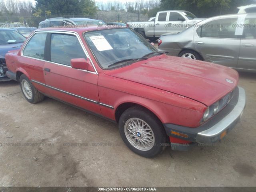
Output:
[[[141,127],[135,128],[138,124]],[[162,123],[152,112],[145,108],[135,106],[127,109],[120,116],[118,125],[120,135],[126,146],[140,156],[154,157],[166,147],[168,137]],[[142,125],[144,125],[143,128]],[[131,130],[133,130],[133,133]],[[145,142],[139,142],[142,139],[147,139],[149,141],[146,142],[148,145]],[[144,146],[142,143],[144,143]]]

